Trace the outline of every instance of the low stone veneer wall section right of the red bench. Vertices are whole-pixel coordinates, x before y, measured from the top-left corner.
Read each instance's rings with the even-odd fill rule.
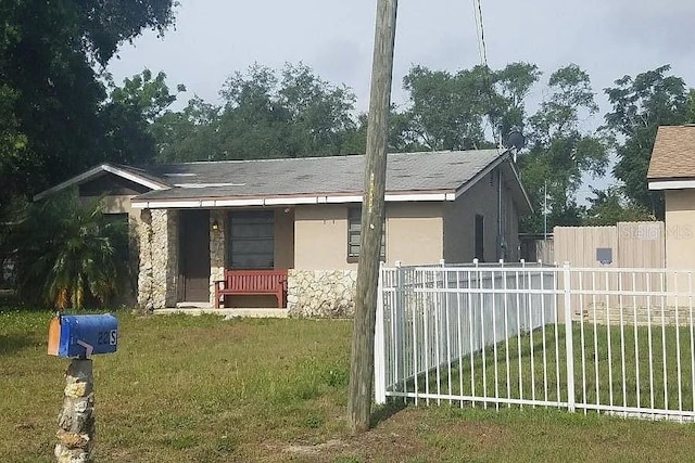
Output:
[[[288,270],[290,317],[344,318],[355,312],[356,270]]]

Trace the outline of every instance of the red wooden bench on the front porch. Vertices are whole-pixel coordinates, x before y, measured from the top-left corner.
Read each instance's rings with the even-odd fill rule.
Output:
[[[271,294],[278,308],[285,307],[287,270],[225,270],[225,279],[215,282],[215,308],[225,296],[260,296]]]

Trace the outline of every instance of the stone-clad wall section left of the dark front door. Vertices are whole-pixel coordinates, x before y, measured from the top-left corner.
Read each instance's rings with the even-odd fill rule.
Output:
[[[178,280],[178,215],[175,210],[143,209],[138,222],[140,266],[138,304],[152,310],[174,307]]]

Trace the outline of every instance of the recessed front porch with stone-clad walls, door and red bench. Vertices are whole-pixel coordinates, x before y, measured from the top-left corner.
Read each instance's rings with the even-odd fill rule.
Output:
[[[293,213],[287,207],[144,209],[138,301],[148,309],[287,308]],[[281,280],[268,280],[269,273]]]

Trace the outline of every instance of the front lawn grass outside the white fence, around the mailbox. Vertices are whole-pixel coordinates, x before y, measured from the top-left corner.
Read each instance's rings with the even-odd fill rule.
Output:
[[[50,317],[0,309],[0,461],[53,461],[67,361],[46,353]],[[99,462],[687,461],[695,451],[692,425],[529,408],[391,404],[351,436],[350,322],[117,317],[118,352],[94,358]]]

